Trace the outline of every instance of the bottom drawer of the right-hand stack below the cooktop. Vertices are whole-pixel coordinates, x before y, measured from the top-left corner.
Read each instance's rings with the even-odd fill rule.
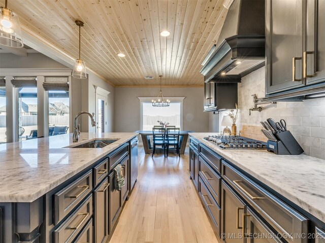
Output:
[[[220,236],[220,208],[199,176],[199,194],[215,232]]]

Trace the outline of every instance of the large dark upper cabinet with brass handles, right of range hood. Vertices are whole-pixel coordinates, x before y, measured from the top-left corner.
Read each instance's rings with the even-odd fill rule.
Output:
[[[325,86],[324,6],[322,0],[267,0],[267,95],[298,96]]]

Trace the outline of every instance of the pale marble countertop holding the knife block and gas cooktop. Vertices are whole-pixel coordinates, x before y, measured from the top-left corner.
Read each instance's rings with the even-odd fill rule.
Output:
[[[325,222],[325,160],[276,155],[267,150],[221,149],[204,140],[212,133],[190,133],[234,165]]]

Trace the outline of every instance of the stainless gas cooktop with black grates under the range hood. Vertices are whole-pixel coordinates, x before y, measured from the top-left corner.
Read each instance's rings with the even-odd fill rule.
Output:
[[[209,135],[203,138],[222,149],[266,149],[267,144],[262,141],[241,136]]]

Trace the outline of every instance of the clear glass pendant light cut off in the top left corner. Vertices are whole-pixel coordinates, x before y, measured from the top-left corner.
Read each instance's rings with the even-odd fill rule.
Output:
[[[18,15],[7,8],[0,7],[0,44],[7,47],[23,47]]]

